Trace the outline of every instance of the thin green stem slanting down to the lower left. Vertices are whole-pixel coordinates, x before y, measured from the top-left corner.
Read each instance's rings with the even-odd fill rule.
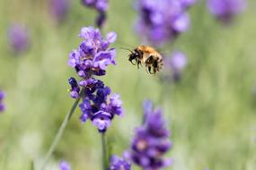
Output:
[[[59,129],[57,130],[57,135],[55,136],[55,139],[53,140],[53,142],[50,145],[50,148],[46,154],[46,157],[44,158],[43,164],[41,166],[41,170],[43,170],[45,168],[45,166],[47,166],[48,162],[49,162],[49,157],[51,157],[51,155],[53,154],[53,152],[55,151],[56,147],[57,147],[57,143],[58,140],[61,138],[63,132],[66,129],[66,125],[69,122],[71,116],[74,114],[75,112],[75,108],[78,105],[80,99],[83,97],[84,95],[84,89],[81,90],[81,92],[79,93],[79,97],[76,98],[74,105],[71,107],[70,111],[67,113],[64,121],[61,123]]]

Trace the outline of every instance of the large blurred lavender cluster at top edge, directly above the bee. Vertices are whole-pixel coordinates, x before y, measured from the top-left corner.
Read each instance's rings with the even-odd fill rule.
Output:
[[[193,0],[139,0],[137,31],[146,40],[160,45],[172,41],[190,27],[186,9]]]

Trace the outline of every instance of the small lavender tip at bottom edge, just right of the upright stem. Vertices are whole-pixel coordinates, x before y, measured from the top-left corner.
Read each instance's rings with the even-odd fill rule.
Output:
[[[110,170],[130,170],[130,163],[123,157],[112,156],[110,158]]]

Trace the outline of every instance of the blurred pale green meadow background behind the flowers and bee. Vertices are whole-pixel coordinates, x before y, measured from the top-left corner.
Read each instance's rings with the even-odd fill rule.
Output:
[[[67,79],[75,76],[67,66],[77,37],[93,25],[96,12],[80,1],[70,1],[66,21],[57,25],[48,1],[0,0],[0,87],[6,110],[0,115],[0,169],[38,167],[67,111]],[[137,13],[132,1],[110,0],[103,34],[118,33],[117,66],[102,78],[123,100],[125,116],[116,117],[107,134],[113,153],[128,149],[133,129],[141,122],[141,103],[150,98],[163,106],[172,130],[173,170],[256,169],[256,2],[233,25],[223,26],[207,12],[204,1],[190,8],[191,27],[172,49],[188,55],[189,64],[178,83],[159,81],[128,62],[119,47],[140,44],[134,32]],[[18,22],[31,30],[31,48],[20,56],[10,52],[6,31]],[[101,136],[92,123],[81,124],[80,110],[67,125],[48,169],[60,160],[73,169],[101,169]],[[133,166],[133,169],[137,167]]]

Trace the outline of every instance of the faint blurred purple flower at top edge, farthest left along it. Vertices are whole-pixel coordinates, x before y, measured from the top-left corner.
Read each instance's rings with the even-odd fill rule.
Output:
[[[62,22],[66,18],[69,10],[69,0],[49,0],[49,10],[57,22]]]

